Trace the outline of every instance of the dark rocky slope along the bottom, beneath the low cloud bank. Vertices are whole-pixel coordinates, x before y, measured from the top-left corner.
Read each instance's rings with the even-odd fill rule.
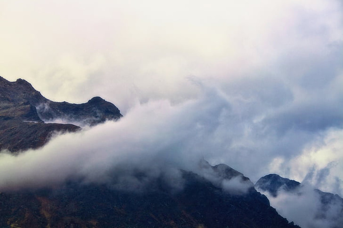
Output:
[[[296,228],[253,187],[231,194],[195,173],[182,176],[185,185],[177,192],[160,177],[143,192],[70,182],[1,193],[0,227]]]

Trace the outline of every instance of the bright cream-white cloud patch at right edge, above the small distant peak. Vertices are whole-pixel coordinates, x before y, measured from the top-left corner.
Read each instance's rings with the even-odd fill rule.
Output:
[[[291,160],[275,158],[270,164],[270,171],[342,196],[342,136],[340,129],[329,130],[325,136],[316,136]]]

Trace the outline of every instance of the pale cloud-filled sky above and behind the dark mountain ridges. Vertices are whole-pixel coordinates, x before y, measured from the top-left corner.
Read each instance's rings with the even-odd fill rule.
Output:
[[[201,157],[343,196],[342,31],[342,0],[0,0],[0,75],[53,101],[114,103],[116,125],[72,136],[99,134],[122,159]],[[76,159],[72,136],[25,156],[49,164],[65,142]]]

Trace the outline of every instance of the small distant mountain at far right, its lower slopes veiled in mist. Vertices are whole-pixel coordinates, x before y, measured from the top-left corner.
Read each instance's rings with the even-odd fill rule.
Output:
[[[256,182],[255,188],[268,195],[272,204],[275,201],[277,210],[287,211],[287,207],[292,208],[291,216],[283,215],[288,216],[303,228],[343,228],[343,199],[337,194],[322,192],[277,174],[269,174],[260,178]],[[278,198],[280,195],[281,197]],[[301,205],[302,202],[310,202],[310,208]],[[297,221],[296,214],[303,214],[306,210],[308,210],[308,221],[306,223]],[[292,215],[295,215],[294,218]]]

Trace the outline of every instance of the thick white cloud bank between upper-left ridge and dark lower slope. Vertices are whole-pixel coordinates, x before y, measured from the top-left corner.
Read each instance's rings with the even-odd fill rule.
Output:
[[[0,187],[39,187],[69,179],[106,182],[114,176],[123,179],[123,173],[133,184],[140,182],[135,172],[146,173],[147,179],[163,174],[172,181],[176,169],[197,167],[212,147],[218,116],[229,109],[216,91],[207,94],[178,106],[166,100],[137,104],[118,122],[58,136],[42,149],[1,154]],[[215,103],[209,102],[212,98]]]

